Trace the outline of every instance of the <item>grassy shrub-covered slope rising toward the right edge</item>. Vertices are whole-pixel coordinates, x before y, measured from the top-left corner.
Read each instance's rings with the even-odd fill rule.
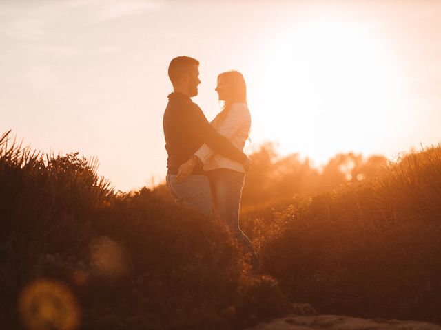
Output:
[[[256,221],[263,269],[325,314],[441,322],[441,148]],[[256,230],[258,228],[258,230]]]

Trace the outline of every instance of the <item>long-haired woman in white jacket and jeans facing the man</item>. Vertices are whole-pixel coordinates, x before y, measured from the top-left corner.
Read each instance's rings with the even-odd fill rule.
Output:
[[[251,116],[247,107],[247,87],[242,74],[237,71],[223,72],[218,76],[215,89],[219,100],[223,101],[223,109],[216,115],[211,124],[218,133],[227,137],[240,150],[245,146],[249,137]],[[253,268],[258,267],[258,259],[252,243],[239,227],[239,210],[242,189],[245,183],[245,168],[242,164],[229,158],[215,154],[206,144],[194,154],[203,162],[203,169],[207,171],[214,208],[234,239],[242,243],[246,252],[251,253]],[[179,168],[178,177],[189,175],[196,166],[194,156]],[[185,173],[185,174],[183,174]]]

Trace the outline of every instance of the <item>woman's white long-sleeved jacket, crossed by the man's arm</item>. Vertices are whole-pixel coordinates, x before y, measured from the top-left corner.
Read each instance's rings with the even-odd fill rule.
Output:
[[[220,135],[227,137],[236,148],[243,150],[251,127],[251,115],[245,103],[231,104],[227,116],[223,120],[214,118],[212,126]],[[238,172],[245,172],[243,165],[239,162],[214,153],[207,144],[194,153],[203,162],[204,170],[215,170],[217,168],[228,168]]]

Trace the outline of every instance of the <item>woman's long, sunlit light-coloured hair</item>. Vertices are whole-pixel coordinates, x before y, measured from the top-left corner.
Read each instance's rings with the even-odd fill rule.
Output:
[[[247,104],[247,85],[243,75],[238,71],[227,71],[218,75],[218,80],[223,79],[226,85],[229,86],[228,100],[225,100],[222,111],[216,115],[216,120],[223,122],[228,114],[229,107],[232,103],[240,102]]]

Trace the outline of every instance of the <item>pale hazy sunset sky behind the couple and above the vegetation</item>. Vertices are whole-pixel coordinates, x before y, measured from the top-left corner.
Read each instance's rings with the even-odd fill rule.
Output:
[[[99,157],[130,190],[164,179],[175,56],[247,80],[251,152],[278,142],[319,165],[441,142],[440,1],[0,0],[0,133]]]

